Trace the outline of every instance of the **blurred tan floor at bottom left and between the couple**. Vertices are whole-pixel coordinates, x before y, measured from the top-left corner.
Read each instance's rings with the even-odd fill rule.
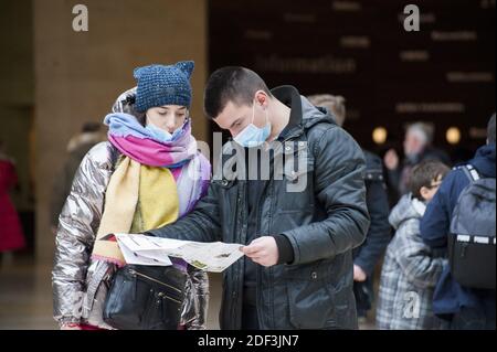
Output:
[[[50,330],[57,326],[52,319],[50,265],[33,265],[32,260],[14,257],[0,267],[0,330]],[[211,275],[211,300],[208,327],[219,329],[221,276]],[[361,329],[374,329],[371,322]]]

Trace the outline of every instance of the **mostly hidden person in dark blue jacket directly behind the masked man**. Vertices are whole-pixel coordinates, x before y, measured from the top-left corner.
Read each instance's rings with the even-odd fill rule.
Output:
[[[332,114],[338,126],[342,127],[347,117],[345,98],[329,94],[313,95],[309,102],[324,107]],[[373,302],[373,274],[377,264],[391,238],[389,224],[389,202],[383,179],[381,158],[362,150],[366,158],[366,202],[371,225],[364,243],[353,249],[353,291],[359,320],[363,322]]]

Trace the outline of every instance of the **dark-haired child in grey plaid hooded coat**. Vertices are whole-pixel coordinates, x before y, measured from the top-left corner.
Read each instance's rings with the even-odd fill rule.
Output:
[[[381,271],[377,327],[381,330],[446,329],[432,310],[433,290],[446,259],[423,243],[420,220],[450,169],[438,161],[414,167],[410,192],[390,213],[395,235]]]

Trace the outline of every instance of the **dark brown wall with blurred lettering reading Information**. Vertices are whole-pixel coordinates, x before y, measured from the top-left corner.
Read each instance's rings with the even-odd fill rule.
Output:
[[[343,95],[346,128],[377,151],[399,146],[406,122],[425,120],[437,146],[473,152],[495,111],[495,0],[415,1],[420,32],[403,29],[408,3],[211,0],[210,70],[244,65],[269,86]],[[377,126],[388,128],[387,146],[372,142]],[[451,126],[463,132],[459,146],[445,140]]]

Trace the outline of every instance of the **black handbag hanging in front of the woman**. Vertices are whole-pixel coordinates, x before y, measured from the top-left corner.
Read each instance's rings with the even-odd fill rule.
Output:
[[[105,300],[104,321],[119,330],[178,330],[187,275],[172,266],[119,268]]]

